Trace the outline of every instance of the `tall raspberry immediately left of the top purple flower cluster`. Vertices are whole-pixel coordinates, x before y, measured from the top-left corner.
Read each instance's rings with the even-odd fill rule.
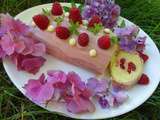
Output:
[[[80,10],[76,7],[72,7],[69,11],[69,19],[74,23],[79,22],[79,24],[82,24],[82,16]]]

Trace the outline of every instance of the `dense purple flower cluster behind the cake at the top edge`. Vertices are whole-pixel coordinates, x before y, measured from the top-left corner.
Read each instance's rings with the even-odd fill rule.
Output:
[[[101,18],[105,27],[113,28],[117,24],[120,7],[112,0],[86,0],[82,12],[83,19],[89,20],[94,15]]]

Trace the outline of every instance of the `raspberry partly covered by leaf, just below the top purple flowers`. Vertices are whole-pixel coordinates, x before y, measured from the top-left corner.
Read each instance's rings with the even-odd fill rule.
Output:
[[[94,15],[88,23],[88,27],[94,27],[94,24],[101,23],[101,19],[99,16]]]

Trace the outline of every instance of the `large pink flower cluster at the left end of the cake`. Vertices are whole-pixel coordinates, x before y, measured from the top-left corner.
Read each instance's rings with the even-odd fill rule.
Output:
[[[29,26],[10,15],[0,15],[0,58],[9,57],[18,70],[35,74],[44,64],[46,47]]]

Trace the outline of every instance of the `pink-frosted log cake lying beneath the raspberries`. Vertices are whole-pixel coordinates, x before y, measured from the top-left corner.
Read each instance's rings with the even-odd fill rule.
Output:
[[[92,72],[98,74],[104,73],[112,55],[117,50],[117,45],[111,45],[109,49],[101,49],[97,45],[97,39],[104,34],[103,32],[94,35],[83,27],[80,27],[79,31],[88,33],[90,42],[87,47],[81,47],[78,44],[70,46],[67,40],[61,40],[56,36],[55,32],[50,33],[35,28],[34,35],[46,44],[47,52],[50,55]],[[76,35],[70,36],[70,38],[75,38],[75,40],[77,40],[77,37]],[[96,50],[97,55],[95,57],[89,56],[91,49]]]

